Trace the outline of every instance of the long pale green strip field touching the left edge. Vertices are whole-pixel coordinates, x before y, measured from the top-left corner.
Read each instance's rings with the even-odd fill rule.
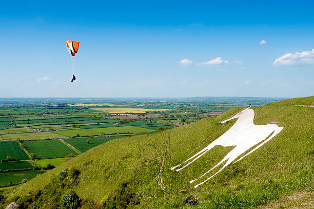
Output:
[[[47,132],[26,132],[23,134],[3,134],[1,135],[6,140],[30,140],[30,139],[55,139],[55,138],[63,138],[56,134],[57,131],[47,131]]]

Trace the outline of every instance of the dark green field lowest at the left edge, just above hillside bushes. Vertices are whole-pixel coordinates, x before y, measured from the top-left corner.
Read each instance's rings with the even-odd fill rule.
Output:
[[[12,184],[21,183],[23,179],[32,179],[36,177],[38,174],[45,173],[44,170],[28,170],[25,172],[9,172],[0,174],[0,186],[9,185],[10,182]]]

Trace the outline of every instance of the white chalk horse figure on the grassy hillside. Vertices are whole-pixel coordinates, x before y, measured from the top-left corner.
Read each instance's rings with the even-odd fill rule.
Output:
[[[242,156],[240,159],[238,159],[235,162],[238,162],[242,158],[246,157],[247,155],[251,154],[253,151],[256,149],[260,148],[263,146],[265,143],[267,143],[269,140],[271,140],[274,136],[276,136],[282,129],[283,127],[279,127],[276,124],[268,124],[268,125],[254,125],[253,124],[253,119],[254,119],[254,111],[252,109],[246,108],[245,110],[239,112],[237,115],[234,117],[222,121],[221,123],[225,123],[231,119],[234,118],[239,118],[237,122],[234,123],[234,125],[227,130],[222,136],[220,136],[218,139],[214,140],[211,142],[207,147],[199,151],[199,153],[193,155],[191,158],[187,159],[183,163],[176,165],[174,167],[171,167],[170,169],[173,170],[175,168],[177,172],[194,162],[195,160],[199,159],[202,155],[204,155],[207,151],[209,151],[211,148],[217,145],[221,146],[235,146],[217,165],[213,166],[210,168],[205,174],[200,176],[197,179],[194,179],[190,181],[190,183],[199,180],[211,170],[213,170],[215,167],[219,166],[221,163],[227,160],[227,162],[222,166],[220,170],[218,170],[217,173],[213,174],[210,176],[208,179],[205,181],[195,185],[194,187],[198,187],[199,185],[205,183],[212,177],[214,177],[216,174],[221,172],[227,165],[229,165],[231,162],[233,162],[235,159],[237,159],[239,156],[241,156],[243,153],[245,153],[248,149],[250,149],[252,146],[259,144],[256,146],[254,149],[249,151],[246,155]],[[267,138],[271,133],[273,134]],[[267,138],[267,139],[266,139]],[[266,140],[265,140],[266,139]],[[265,141],[263,141],[265,140]],[[263,141],[263,142],[262,142]],[[261,143],[262,142],[262,143]]]

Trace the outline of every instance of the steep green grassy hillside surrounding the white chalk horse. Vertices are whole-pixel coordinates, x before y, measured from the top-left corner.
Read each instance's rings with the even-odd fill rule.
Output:
[[[275,123],[284,129],[198,188],[188,181],[204,174],[233,147],[214,147],[180,172],[169,168],[221,136],[236,119],[219,122],[241,109],[173,129],[110,140],[5,191],[6,200],[2,202],[5,205],[17,200],[24,207],[55,208],[61,196],[73,188],[83,208],[94,208],[96,204],[100,207],[101,203],[105,208],[266,205],[286,194],[314,189],[314,108],[310,107],[313,103],[314,97],[307,97],[254,107],[255,124]],[[61,172],[67,168],[65,177]]]

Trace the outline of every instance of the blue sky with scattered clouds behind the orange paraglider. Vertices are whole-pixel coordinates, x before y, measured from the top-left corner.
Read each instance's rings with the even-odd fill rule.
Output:
[[[9,2],[0,97],[314,92],[313,1]],[[66,40],[80,41],[75,83]]]

